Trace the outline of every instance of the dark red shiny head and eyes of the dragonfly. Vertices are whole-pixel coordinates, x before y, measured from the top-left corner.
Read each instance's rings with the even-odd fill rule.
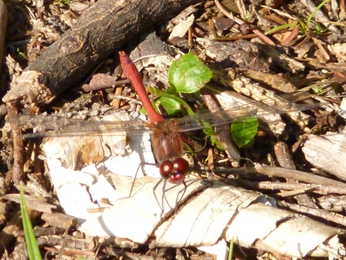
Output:
[[[163,180],[173,184],[179,184],[185,180],[185,174],[188,173],[190,165],[188,161],[179,157],[174,161],[165,160],[160,164],[160,174]]]

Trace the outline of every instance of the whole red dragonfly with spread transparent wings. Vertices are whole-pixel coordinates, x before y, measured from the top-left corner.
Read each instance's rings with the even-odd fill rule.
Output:
[[[224,125],[231,123],[239,116],[255,116],[261,118],[270,114],[284,114],[308,110],[318,104],[296,104],[295,101],[307,96],[303,92],[285,94],[274,98],[268,98],[266,104],[253,102],[248,105],[219,110],[218,112],[198,112],[194,116],[183,116],[179,119],[165,119],[156,112],[145,90],[140,73],[129,55],[124,51],[119,52],[120,64],[125,76],[129,79],[136,91],[143,107],[147,111],[149,122],[145,121],[85,121],[82,119],[69,119],[57,116],[43,115],[17,115],[8,121],[18,125],[30,125],[43,127],[51,132],[36,132],[26,134],[23,137],[73,137],[81,135],[116,135],[117,132],[126,131],[127,135],[142,135],[149,133],[152,142],[154,156],[158,162],[163,192],[166,182],[183,184],[186,189],[185,176],[190,173],[190,165],[183,158],[183,141],[181,135],[191,130],[200,130],[208,126]],[[185,191],[183,191],[185,193]],[[183,196],[181,196],[183,198]],[[156,198],[157,200],[157,198]]]

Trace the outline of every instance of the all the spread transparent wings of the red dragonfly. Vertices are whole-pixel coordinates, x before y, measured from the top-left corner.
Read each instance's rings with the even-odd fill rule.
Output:
[[[284,114],[287,112],[296,112],[308,110],[320,106],[320,103],[296,104],[301,98],[306,98],[308,94],[298,92],[295,94],[284,94],[274,98],[267,98],[260,103],[252,103],[237,106],[230,110],[220,110],[219,112],[199,112],[194,116],[185,116],[181,119],[169,119],[174,121],[174,129],[179,132],[189,130],[198,130],[206,126],[221,125],[230,123],[235,118],[242,116],[256,116],[258,118],[270,114]],[[8,119],[10,123],[16,123],[21,128],[42,128],[43,130],[52,130],[50,132],[37,132],[26,134],[23,137],[73,137],[81,135],[142,135],[143,133],[152,133],[159,130],[155,125],[143,121],[94,121],[71,119],[60,116],[44,115],[17,115]],[[208,125],[206,125],[208,123]],[[172,129],[173,130],[173,129]]]

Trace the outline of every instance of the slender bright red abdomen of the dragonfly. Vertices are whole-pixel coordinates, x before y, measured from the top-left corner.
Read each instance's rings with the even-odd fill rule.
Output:
[[[134,90],[136,91],[140,101],[142,101],[143,103],[143,107],[145,108],[145,110],[147,110],[150,123],[162,123],[164,121],[163,116],[161,116],[161,114],[158,114],[158,112],[156,112],[156,110],[152,106],[136,65],[129,58],[129,55],[127,55],[124,51],[119,51],[119,55],[122,71],[129,79],[132,87],[134,87]]]

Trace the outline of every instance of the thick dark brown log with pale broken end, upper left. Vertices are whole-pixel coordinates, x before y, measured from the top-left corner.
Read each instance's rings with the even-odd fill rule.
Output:
[[[3,101],[14,107],[50,103],[64,89],[80,83],[98,62],[129,39],[199,2],[98,1],[80,17],[75,27],[24,70]]]

